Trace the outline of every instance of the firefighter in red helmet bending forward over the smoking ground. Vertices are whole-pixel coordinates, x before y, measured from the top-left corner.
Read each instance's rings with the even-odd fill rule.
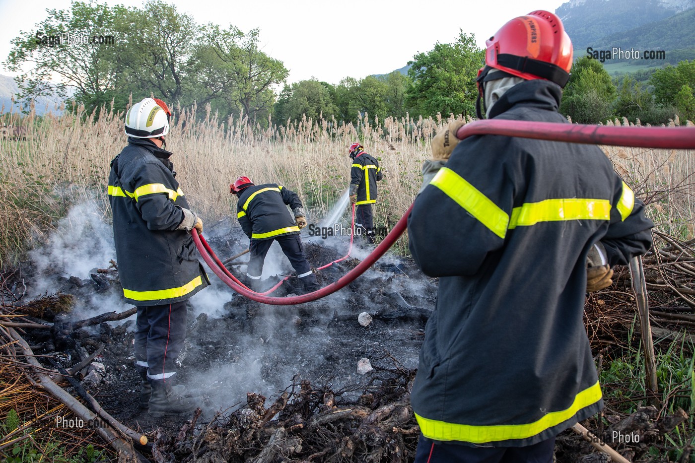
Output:
[[[265,254],[272,242],[277,241],[297,272],[304,291],[319,289],[302,247],[300,229],[306,227],[306,214],[297,193],[278,184],[254,185],[248,177],[236,179],[229,191],[238,198],[236,217],[250,240],[246,286],[259,291]],[[287,206],[292,208],[294,218]]]

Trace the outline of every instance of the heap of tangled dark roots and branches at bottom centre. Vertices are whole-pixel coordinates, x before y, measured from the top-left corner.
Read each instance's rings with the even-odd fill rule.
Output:
[[[191,424],[176,438],[159,432],[155,461],[412,461],[420,432],[409,401],[414,371],[388,357],[395,368],[379,369],[359,393],[299,380],[268,408],[265,397],[248,393],[246,405],[219,414],[195,437]]]

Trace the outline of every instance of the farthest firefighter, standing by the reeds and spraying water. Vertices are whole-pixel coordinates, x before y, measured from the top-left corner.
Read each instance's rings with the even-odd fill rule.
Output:
[[[374,215],[372,204],[377,202],[377,181],[384,178],[379,162],[364,151],[359,143],[349,148],[352,167],[350,168],[350,202],[357,206],[355,225],[361,229],[368,243],[374,243]]]

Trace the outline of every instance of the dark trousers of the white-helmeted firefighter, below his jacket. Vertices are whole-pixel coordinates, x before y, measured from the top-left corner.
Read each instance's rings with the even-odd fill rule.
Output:
[[[176,359],[186,339],[186,301],[138,307],[135,332],[136,365],[152,380],[176,373]]]

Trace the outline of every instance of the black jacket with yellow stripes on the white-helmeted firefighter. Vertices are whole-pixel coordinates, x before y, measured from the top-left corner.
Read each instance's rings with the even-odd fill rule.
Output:
[[[210,284],[190,235],[195,214],[158,150],[167,153],[129,139],[108,177],[118,275],[126,301],[138,306],[186,300]]]

